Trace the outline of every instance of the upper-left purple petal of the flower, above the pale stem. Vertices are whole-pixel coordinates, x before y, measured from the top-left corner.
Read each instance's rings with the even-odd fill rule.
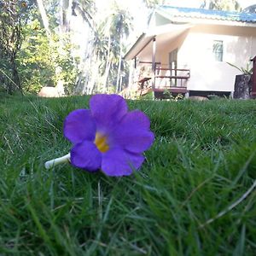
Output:
[[[96,123],[88,109],[77,109],[69,113],[63,129],[64,136],[72,143],[93,141],[96,135]]]

